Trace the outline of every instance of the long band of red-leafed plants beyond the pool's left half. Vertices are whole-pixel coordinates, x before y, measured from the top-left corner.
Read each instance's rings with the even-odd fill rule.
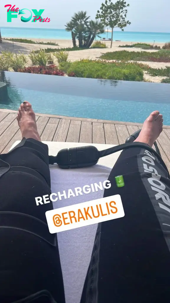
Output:
[[[42,75],[55,75],[55,76],[64,76],[64,72],[60,71],[56,65],[47,65],[47,66],[28,66],[22,69],[19,69],[18,72],[22,73],[31,73],[31,74],[42,74]]]

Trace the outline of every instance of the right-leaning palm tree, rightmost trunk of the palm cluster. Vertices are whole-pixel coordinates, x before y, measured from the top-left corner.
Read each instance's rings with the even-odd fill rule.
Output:
[[[98,20],[91,20],[89,26],[87,27],[88,38],[85,42],[85,47],[90,47],[96,37],[100,38],[100,35],[105,32],[104,25]]]

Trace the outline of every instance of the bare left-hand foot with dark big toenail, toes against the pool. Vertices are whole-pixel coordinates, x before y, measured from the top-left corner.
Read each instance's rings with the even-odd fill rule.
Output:
[[[31,104],[28,101],[24,101],[20,105],[18,109],[17,121],[21,130],[22,138],[33,138],[35,140],[41,141],[40,135],[38,134],[37,130],[35,114],[31,107]]]

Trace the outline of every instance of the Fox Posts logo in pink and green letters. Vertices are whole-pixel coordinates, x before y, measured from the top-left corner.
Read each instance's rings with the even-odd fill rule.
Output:
[[[15,5],[7,4],[5,7],[8,7],[7,10],[7,22],[11,22],[12,18],[19,18],[22,22],[28,22],[32,18],[31,22],[50,22],[50,18],[42,18],[41,14],[44,12],[44,9],[40,9],[37,11],[36,9],[28,9],[28,8],[22,8],[19,9],[18,7],[15,8]],[[32,13],[32,12],[33,13]],[[26,15],[23,17],[23,15]]]

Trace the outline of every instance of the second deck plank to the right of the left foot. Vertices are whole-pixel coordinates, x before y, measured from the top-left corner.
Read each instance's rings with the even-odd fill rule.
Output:
[[[41,135],[42,141],[52,141],[60,119],[50,118]]]

